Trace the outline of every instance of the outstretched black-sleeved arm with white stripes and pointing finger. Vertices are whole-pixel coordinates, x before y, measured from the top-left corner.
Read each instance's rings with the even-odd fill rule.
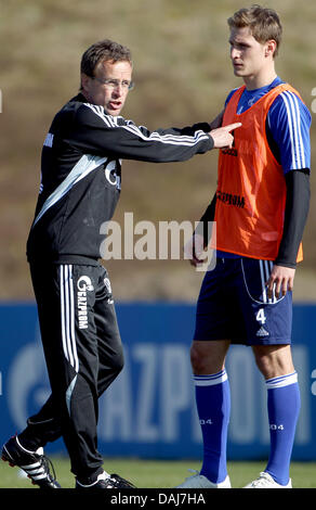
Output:
[[[210,125],[195,125],[183,129],[149,131],[123,117],[114,118],[92,104],[82,104],[77,111],[68,141],[73,146],[90,154],[113,158],[139,160],[153,163],[182,162],[211,149],[229,146],[239,124],[210,130]]]

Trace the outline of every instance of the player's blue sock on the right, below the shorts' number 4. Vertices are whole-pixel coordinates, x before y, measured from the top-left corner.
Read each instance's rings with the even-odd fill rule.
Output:
[[[265,471],[278,484],[287,485],[301,407],[298,374],[293,372],[265,382],[271,436],[271,452]]]

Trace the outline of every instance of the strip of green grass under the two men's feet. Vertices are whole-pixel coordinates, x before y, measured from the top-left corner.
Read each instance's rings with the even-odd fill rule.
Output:
[[[57,480],[63,488],[74,488],[74,476],[69,461],[52,457]],[[105,459],[104,468],[111,473],[133,482],[139,488],[172,488],[189,476],[188,469],[199,469],[198,461],[160,461],[140,459]],[[228,472],[234,488],[241,488],[265,467],[262,462],[228,462]],[[293,462],[291,466],[293,488],[316,488],[316,462]],[[34,488],[17,468],[0,462],[0,488]]]

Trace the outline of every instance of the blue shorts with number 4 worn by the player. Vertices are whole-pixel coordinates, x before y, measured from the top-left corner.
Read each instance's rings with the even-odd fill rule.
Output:
[[[235,344],[290,344],[292,293],[267,297],[269,260],[218,258],[203,278],[196,309],[194,340],[231,340]]]

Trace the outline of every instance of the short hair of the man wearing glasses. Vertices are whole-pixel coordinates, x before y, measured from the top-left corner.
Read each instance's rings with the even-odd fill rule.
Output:
[[[94,69],[98,62],[129,62],[132,65],[132,55],[129,48],[111,41],[110,39],[103,39],[94,42],[88,50],[84,51],[81,58],[80,71],[87,76],[93,77]]]

